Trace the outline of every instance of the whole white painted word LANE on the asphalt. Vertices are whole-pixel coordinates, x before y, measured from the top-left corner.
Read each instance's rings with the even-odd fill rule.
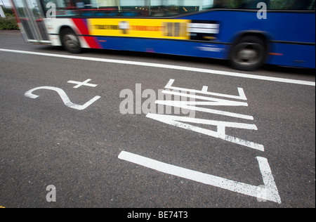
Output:
[[[229,143],[234,143],[247,149],[250,148],[256,150],[257,152],[260,152],[260,154],[265,151],[265,148],[262,144],[256,143],[254,141],[249,141],[244,138],[230,136],[226,133],[227,128],[232,128],[236,131],[238,131],[239,129],[258,131],[258,128],[255,124],[242,123],[242,120],[246,120],[248,122],[254,121],[254,117],[237,112],[228,112],[225,110],[220,110],[218,108],[248,107],[248,103],[246,103],[247,98],[244,93],[244,89],[237,88],[238,95],[236,96],[211,92],[209,91],[208,86],[202,86],[202,90],[180,88],[173,86],[174,82],[174,79],[170,79],[169,83],[166,84],[166,86],[164,87],[165,89],[162,91],[160,90],[160,92],[173,97],[169,97],[169,99],[166,100],[158,99],[154,103],[156,105],[164,105],[166,107],[174,107],[193,112],[187,112],[190,114],[190,116],[188,117],[183,115],[170,115],[170,113],[164,114],[163,112],[149,112],[146,115],[147,118],[181,129],[186,129],[194,133],[202,133],[206,136],[211,136],[213,138],[217,138]],[[129,97],[133,98],[133,96]],[[162,96],[158,97],[163,98]],[[172,100],[170,98],[178,99]],[[124,100],[124,105],[122,105],[122,107],[125,107],[126,101],[128,101],[128,98]],[[217,108],[213,109],[211,107]],[[126,110],[122,111],[124,111],[124,113],[126,114],[129,113],[128,111],[126,112]],[[133,111],[133,107],[131,111]],[[235,118],[238,120],[238,122],[237,120],[236,122],[224,122],[215,119],[197,119],[195,118],[195,112],[204,112],[206,114],[217,115],[219,117],[223,116]],[[199,126],[195,126],[197,124],[199,124]],[[216,131],[203,128],[200,125],[215,126]],[[206,185],[212,185],[218,188],[223,188],[225,190],[230,190],[232,192],[238,192],[243,195],[256,197],[258,202],[271,201],[278,204],[282,203],[281,197],[279,196],[279,192],[277,190],[277,185],[275,184],[275,179],[272,176],[272,171],[270,169],[268,159],[266,159],[265,157],[261,157],[261,155],[256,157],[256,162],[258,162],[258,169],[261,173],[261,175],[258,176],[260,176],[263,180],[262,185],[251,185],[239,181],[232,181],[227,178],[222,178],[211,174],[204,174],[192,169],[185,169],[180,166],[174,166],[164,162],[159,162],[157,160],[126,151],[122,151],[119,154],[119,159],[125,160],[127,162],[132,162],[133,164],[138,164],[140,166],[145,166],[149,169],[160,171],[164,174],[170,174],[199,183],[204,183]]]

